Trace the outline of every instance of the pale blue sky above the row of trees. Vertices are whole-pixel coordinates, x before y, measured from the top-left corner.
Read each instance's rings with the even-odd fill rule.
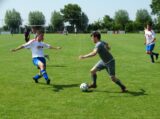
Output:
[[[139,9],[147,9],[151,13],[151,0],[0,0],[0,26],[4,25],[6,10],[13,8],[20,13],[23,24],[28,23],[29,12],[41,11],[48,25],[51,13],[60,11],[69,3],[78,4],[88,16],[89,23],[102,20],[105,15],[114,18],[115,12],[121,9],[128,12],[131,20],[135,20]]]

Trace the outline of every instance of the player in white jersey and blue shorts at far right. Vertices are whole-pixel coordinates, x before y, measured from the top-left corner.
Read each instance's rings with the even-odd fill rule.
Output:
[[[145,45],[146,45],[146,53],[150,55],[151,62],[154,63],[154,57],[156,60],[159,57],[158,53],[153,52],[154,47],[155,47],[155,41],[156,41],[156,35],[155,32],[152,30],[152,24],[148,23],[147,27],[144,30],[145,32]]]

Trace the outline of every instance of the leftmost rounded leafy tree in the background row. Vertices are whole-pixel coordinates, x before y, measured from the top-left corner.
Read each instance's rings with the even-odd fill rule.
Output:
[[[5,24],[12,32],[17,32],[19,26],[22,24],[20,13],[15,9],[7,10],[5,14]]]

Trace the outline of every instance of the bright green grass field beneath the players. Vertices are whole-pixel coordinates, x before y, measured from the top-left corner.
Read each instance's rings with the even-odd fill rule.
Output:
[[[24,43],[23,35],[0,35],[0,119],[159,119],[160,59],[150,63],[145,54],[143,34],[102,35],[116,59],[117,77],[127,86],[120,89],[105,71],[98,72],[98,87],[84,93],[82,82],[90,82],[90,68],[99,57],[79,60],[94,44],[89,34],[45,35],[45,42],[62,46],[50,55],[47,72],[51,85],[42,78],[32,80],[38,70],[31,52],[10,52]],[[160,35],[157,35],[160,39]],[[157,40],[155,51],[160,52]]]

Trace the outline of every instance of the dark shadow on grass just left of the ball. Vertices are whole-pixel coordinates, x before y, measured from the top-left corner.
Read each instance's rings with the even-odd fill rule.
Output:
[[[61,90],[64,90],[64,88],[73,88],[73,87],[78,87],[79,84],[68,84],[68,85],[56,85],[56,84],[53,84],[53,91],[55,92],[59,92]]]

